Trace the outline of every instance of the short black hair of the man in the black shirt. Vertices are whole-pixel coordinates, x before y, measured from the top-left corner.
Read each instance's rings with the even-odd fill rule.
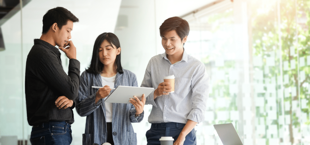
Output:
[[[63,7],[55,7],[48,10],[43,16],[42,34],[46,34],[54,23],[57,23],[58,28],[61,29],[62,26],[68,23],[68,20],[72,22],[79,21],[75,15]]]

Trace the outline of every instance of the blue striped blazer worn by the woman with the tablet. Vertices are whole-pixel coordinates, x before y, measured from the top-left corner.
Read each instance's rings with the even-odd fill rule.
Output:
[[[119,85],[138,87],[134,73],[124,70],[123,74],[117,73],[114,88]],[[105,86],[102,84],[100,74],[91,74],[84,71],[81,75],[81,83],[77,97],[76,110],[80,116],[86,117],[83,145],[102,144],[107,141],[106,114],[103,99],[95,104],[98,88],[91,86]],[[112,132],[115,145],[136,145],[137,135],[131,123],[141,122],[144,112],[135,117],[135,107],[132,104],[113,103]]]

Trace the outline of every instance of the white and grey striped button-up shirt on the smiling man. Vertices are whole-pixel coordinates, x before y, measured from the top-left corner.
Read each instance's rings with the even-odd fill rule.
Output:
[[[156,55],[148,62],[141,87],[157,88],[164,81],[163,77],[169,75],[175,76],[175,92],[154,100],[153,91],[146,98],[145,104],[153,105],[148,122],[185,124],[188,119],[203,121],[210,81],[205,65],[188,55],[185,50],[182,60],[175,64],[171,64],[166,53]]]

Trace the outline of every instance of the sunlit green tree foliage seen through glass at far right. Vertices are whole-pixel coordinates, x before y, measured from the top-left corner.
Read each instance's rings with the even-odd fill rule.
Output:
[[[297,3],[297,6],[295,5]],[[289,75],[289,83],[284,84],[284,88],[296,88],[297,96],[284,97],[277,95],[277,98],[283,100],[284,102],[279,101],[277,103],[277,112],[278,112],[278,119],[281,115],[282,105],[285,102],[289,102],[290,110],[285,111],[286,115],[290,115],[291,118],[291,125],[290,130],[294,128],[300,127],[301,122],[299,116],[296,115],[295,111],[292,110],[292,101],[299,100],[299,99],[307,99],[307,95],[305,93],[308,92],[308,86],[304,87],[303,83],[310,83],[310,79],[308,75],[310,74],[310,67],[307,65],[298,68],[298,62],[300,57],[305,57],[310,55],[309,48],[310,48],[310,14],[309,14],[309,7],[310,1],[308,0],[281,0],[280,10],[277,10],[277,3],[272,3],[270,6],[269,11],[263,14],[252,13],[252,34],[253,34],[253,56],[266,56],[266,54],[272,51],[281,50],[281,58],[275,58],[276,66],[271,67],[272,71],[269,72],[268,75],[264,75],[264,78],[271,78],[274,76],[280,76],[281,79],[284,79],[282,75]],[[264,6],[264,4],[252,3],[253,7],[257,7],[257,9]],[[260,7],[261,6],[261,7]],[[278,17],[278,12],[280,12],[280,17]],[[297,16],[297,17],[296,17]],[[278,23],[280,19],[280,23]],[[306,21],[305,21],[306,20]],[[281,32],[279,32],[280,30]],[[280,41],[279,41],[280,37]],[[281,45],[279,45],[281,44]],[[273,49],[272,46],[276,46],[277,49]],[[281,47],[281,49],[279,49]],[[266,56],[267,57],[267,56]],[[306,60],[305,59],[305,60]],[[295,61],[295,66],[291,64],[291,61]],[[262,61],[265,61],[264,59]],[[284,66],[280,66],[280,61],[289,62],[289,69],[284,70]],[[266,63],[263,63],[265,66]],[[257,67],[258,69],[264,67]],[[306,80],[299,81],[299,71],[305,71]],[[281,80],[277,80],[277,86],[281,86]],[[281,89],[277,88],[277,89]],[[300,89],[300,91],[299,91]],[[281,104],[283,103],[283,104]],[[304,113],[309,113],[309,100],[308,100],[308,108],[302,109],[301,111]],[[287,106],[286,106],[287,107]],[[294,106],[299,108],[299,106]],[[256,113],[257,117],[261,117],[261,113]],[[282,115],[283,117],[283,115]],[[309,119],[309,118],[308,118]],[[272,122],[278,124],[278,122]],[[309,124],[308,122],[304,124]],[[281,126],[281,124],[278,124]],[[278,126],[278,127],[279,127]],[[293,132],[290,132],[291,139],[294,138]]]

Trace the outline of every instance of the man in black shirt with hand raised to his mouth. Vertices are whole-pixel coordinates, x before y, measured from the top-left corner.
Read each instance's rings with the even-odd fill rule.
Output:
[[[33,126],[32,145],[72,142],[73,100],[80,85],[80,62],[73,42],[69,41],[73,22],[78,22],[78,18],[63,7],[47,11],[42,36],[34,40],[27,56],[25,95],[28,123]],[[69,58],[68,75],[55,45]]]

